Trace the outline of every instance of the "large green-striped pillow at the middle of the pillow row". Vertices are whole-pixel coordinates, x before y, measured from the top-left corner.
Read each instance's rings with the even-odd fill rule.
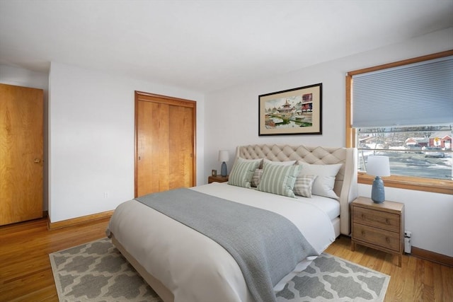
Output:
[[[287,197],[296,197],[292,188],[299,175],[299,168],[299,165],[264,163],[263,176],[257,189]]]

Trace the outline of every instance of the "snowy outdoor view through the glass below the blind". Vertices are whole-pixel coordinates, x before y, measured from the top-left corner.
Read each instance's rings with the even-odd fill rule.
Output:
[[[389,156],[392,175],[453,180],[452,128],[448,126],[357,129],[359,170],[369,155]]]

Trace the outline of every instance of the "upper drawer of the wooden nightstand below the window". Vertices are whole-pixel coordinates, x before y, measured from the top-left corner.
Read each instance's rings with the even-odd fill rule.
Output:
[[[354,207],[353,221],[394,232],[399,232],[400,230],[400,215],[384,211]]]

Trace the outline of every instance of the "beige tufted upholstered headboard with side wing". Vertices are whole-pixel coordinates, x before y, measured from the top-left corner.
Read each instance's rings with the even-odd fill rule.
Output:
[[[322,146],[248,145],[236,147],[236,158],[304,161],[316,165],[344,163],[333,190],[340,197],[340,233],[350,236],[350,202],[357,197],[357,149]]]

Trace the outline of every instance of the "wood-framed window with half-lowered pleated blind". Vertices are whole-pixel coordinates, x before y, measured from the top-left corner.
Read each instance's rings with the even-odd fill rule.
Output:
[[[453,50],[350,71],[346,76],[347,146],[389,156],[386,186],[453,194]]]

